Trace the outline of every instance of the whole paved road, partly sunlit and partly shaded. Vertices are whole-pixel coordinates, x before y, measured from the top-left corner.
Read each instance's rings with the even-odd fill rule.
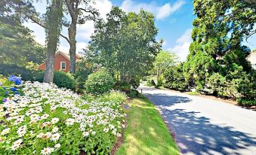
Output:
[[[256,155],[256,111],[169,90],[140,87],[183,154]]]

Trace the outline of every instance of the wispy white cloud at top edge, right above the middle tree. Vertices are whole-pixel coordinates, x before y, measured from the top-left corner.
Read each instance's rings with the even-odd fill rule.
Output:
[[[145,11],[150,11],[155,14],[157,20],[163,20],[169,17],[175,11],[177,11],[185,2],[183,0],[177,0],[173,5],[165,3],[165,5],[157,6],[156,3],[137,3],[131,0],[125,0],[122,2],[121,8],[125,12],[139,12],[141,8]]]

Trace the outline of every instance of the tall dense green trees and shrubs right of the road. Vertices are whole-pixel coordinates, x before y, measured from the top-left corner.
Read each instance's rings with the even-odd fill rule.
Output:
[[[165,87],[196,89],[231,99],[256,99],[256,78],[243,41],[255,33],[256,8],[247,1],[193,2],[193,42],[183,65],[165,71]]]

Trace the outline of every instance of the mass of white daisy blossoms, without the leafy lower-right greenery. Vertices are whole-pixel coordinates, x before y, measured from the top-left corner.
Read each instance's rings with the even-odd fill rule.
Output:
[[[0,105],[0,120],[4,120],[0,122],[0,154],[4,148],[31,147],[32,141],[51,141],[42,143],[40,152],[51,154],[60,149],[58,141],[65,137],[65,129],[75,124],[84,138],[97,132],[121,136],[125,127],[122,102],[86,102],[54,84],[25,82],[22,87],[23,96],[15,95]]]

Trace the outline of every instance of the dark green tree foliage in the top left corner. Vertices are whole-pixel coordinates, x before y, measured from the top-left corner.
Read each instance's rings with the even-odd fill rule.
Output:
[[[30,3],[19,6],[16,1],[3,0],[0,8],[0,62],[9,65],[41,63],[45,59],[45,47],[37,44],[32,31],[22,25],[22,10]],[[27,9],[27,12],[33,8]]]

